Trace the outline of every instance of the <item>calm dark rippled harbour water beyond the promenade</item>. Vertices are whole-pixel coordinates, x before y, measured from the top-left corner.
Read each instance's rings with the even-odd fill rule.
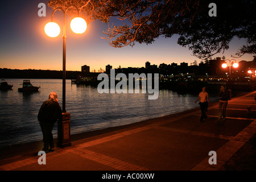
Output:
[[[5,79],[13,90],[0,92],[0,147],[42,140],[37,115],[50,92],[56,92],[62,107],[62,80],[30,79],[39,92],[18,92],[23,79]],[[197,96],[159,90],[157,100],[147,94],[100,94],[97,88],[77,86],[67,80],[66,110],[71,113],[71,135],[121,126],[198,107]],[[53,129],[57,137],[57,125]]]

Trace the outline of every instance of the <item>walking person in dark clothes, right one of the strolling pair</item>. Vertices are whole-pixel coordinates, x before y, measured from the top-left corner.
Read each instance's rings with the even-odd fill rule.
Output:
[[[220,97],[219,103],[218,103],[218,121],[226,120],[226,106],[228,105],[228,97],[229,93],[228,90],[226,90],[226,87],[224,85],[221,86],[220,93],[218,94]]]

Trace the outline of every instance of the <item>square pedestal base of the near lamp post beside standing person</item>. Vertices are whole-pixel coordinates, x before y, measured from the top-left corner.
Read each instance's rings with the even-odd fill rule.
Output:
[[[57,146],[64,148],[71,146],[70,141],[70,113],[62,113],[62,121],[58,121]]]

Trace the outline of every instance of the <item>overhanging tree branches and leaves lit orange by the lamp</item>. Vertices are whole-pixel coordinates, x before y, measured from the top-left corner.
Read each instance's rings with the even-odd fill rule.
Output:
[[[210,17],[209,4],[216,3],[217,16]],[[236,53],[256,53],[255,1],[220,0],[51,0],[48,6],[79,7],[80,15],[91,22],[99,19],[109,23],[111,17],[122,24],[109,24],[104,31],[110,46],[151,44],[159,36],[179,35],[177,43],[192,50],[193,55],[207,59],[229,48],[234,37],[245,39],[246,44]],[[69,14],[75,14],[70,9]]]

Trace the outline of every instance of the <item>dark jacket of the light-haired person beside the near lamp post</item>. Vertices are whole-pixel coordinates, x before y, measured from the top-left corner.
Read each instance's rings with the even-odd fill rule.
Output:
[[[47,100],[44,101],[38,113],[39,122],[56,122],[62,118],[62,111],[58,102]]]

